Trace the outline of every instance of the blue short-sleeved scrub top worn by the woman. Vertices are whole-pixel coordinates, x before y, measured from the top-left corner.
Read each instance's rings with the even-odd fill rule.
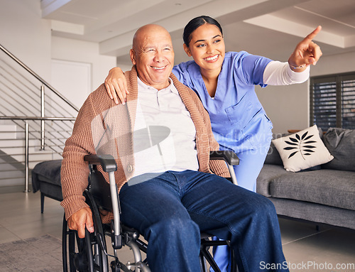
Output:
[[[214,137],[222,150],[239,153],[270,144],[273,125],[254,88],[254,85],[266,87],[263,72],[268,62],[271,62],[268,58],[245,51],[227,52],[214,99],[209,96],[194,60],[173,68],[178,80],[198,94],[209,112]]]

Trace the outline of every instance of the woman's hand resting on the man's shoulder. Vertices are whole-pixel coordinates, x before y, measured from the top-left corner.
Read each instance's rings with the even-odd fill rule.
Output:
[[[127,88],[126,77],[124,77],[124,72],[120,67],[114,67],[109,70],[109,75],[105,79],[105,87],[107,94],[109,94],[111,99],[114,99],[116,104],[119,104],[119,100],[122,104],[125,104],[126,94],[129,94],[129,91]]]

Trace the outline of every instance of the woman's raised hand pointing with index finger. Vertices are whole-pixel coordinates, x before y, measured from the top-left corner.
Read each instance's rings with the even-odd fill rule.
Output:
[[[318,26],[312,33],[308,34],[297,44],[292,55],[288,59],[288,64],[295,72],[302,72],[309,65],[315,65],[322,55],[320,47],[312,40],[321,31],[322,26]]]

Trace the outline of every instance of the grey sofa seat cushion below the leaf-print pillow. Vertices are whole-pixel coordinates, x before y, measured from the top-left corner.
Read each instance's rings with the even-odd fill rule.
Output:
[[[355,173],[322,169],[280,175],[271,181],[270,194],[355,210]]]

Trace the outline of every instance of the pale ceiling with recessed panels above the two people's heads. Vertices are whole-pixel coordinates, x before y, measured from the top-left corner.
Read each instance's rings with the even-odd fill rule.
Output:
[[[354,0],[41,0],[52,35],[99,43],[102,55],[130,64],[136,29],[164,26],[173,38],[175,62],[188,60],[182,31],[195,16],[212,16],[224,30],[226,50],[246,50],[288,60],[295,45],[318,25],[323,55],[355,51]]]

